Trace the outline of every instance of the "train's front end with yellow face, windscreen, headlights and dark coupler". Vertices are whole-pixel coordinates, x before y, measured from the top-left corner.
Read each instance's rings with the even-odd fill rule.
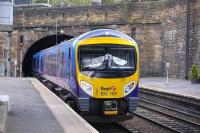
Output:
[[[76,55],[78,104],[86,119],[116,122],[132,118],[138,103],[137,44],[116,37],[88,38],[79,42]]]

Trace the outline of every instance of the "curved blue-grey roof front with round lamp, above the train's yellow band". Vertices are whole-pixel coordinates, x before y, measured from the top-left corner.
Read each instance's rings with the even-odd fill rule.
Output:
[[[81,41],[81,40],[93,38],[93,37],[117,37],[117,38],[123,38],[123,39],[135,42],[128,35],[120,32],[120,31],[113,30],[113,29],[97,29],[97,30],[89,31],[89,32],[77,37],[76,41]]]

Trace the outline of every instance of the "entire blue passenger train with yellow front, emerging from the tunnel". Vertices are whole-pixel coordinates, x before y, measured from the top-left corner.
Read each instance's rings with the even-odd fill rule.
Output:
[[[138,105],[139,50],[113,29],[97,29],[33,55],[32,72],[62,88],[59,96],[88,121],[133,118]]]

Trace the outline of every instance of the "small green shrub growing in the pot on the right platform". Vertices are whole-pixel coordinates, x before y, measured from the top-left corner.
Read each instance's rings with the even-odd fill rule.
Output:
[[[200,67],[193,64],[190,70],[190,78],[191,80],[198,80],[200,79]]]

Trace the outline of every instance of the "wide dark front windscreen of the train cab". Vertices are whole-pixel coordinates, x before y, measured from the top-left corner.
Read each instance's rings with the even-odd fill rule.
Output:
[[[91,77],[127,77],[136,70],[136,52],[127,45],[87,45],[78,50],[79,70]]]

